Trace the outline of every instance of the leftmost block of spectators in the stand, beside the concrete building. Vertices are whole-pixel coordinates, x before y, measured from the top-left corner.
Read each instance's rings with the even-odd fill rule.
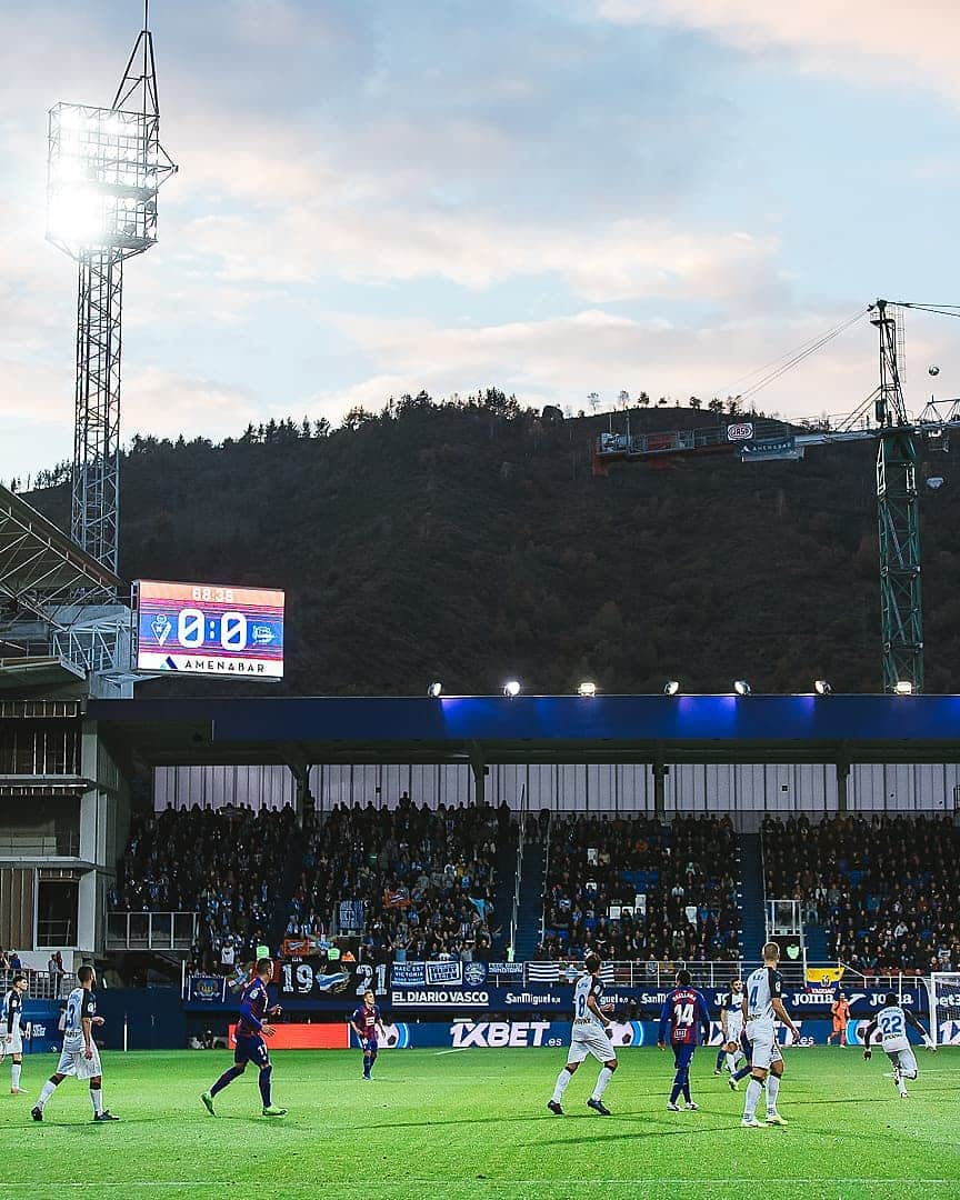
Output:
[[[199,913],[194,962],[232,970],[275,941],[283,868],[299,829],[293,809],[228,805],[138,814],[116,865],[114,911]]]

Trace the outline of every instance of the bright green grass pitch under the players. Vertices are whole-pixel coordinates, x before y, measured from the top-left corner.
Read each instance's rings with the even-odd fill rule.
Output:
[[[104,1100],[122,1122],[95,1126],[85,1085],[66,1080],[42,1124],[30,1121],[53,1055],[26,1057],[28,1094],[0,1094],[0,1196],[362,1198],[547,1200],[942,1200],[960,1198],[960,1051],[920,1058],[911,1099],[886,1060],[858,1050],[788,1052],[780,1111],[787,1129],[742,1129],[743,1092],[694,1063],[700,1112],[667,1112],[671,1058],[622,1051],[606,1100],[584,1106],[588,1062],[568,1088],[566,1117],[545,1109],[562,1050],[431,1050],[380,1055],[275,1052],[275,1102],[259,1115],[256,1072],[199,1102],[228,1064],[223,1051],[107,1054]],[[742,1085],[742,1088],[745,1085]],[[770,1183],[758,1181],[772,1180]],[[751,1182],[757,1181],[757,1182]],[[748,1190],[750,1189],[750,1190]]]

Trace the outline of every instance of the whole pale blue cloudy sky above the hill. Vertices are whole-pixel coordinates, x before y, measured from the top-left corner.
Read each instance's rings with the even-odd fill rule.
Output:
[[[139,0],[0,0],[0,479],[72,454],[47,112],[109,104]],[[125,269],[122,437],[497,385],[685,401],[876,296],[960,304],[952,0],[152,0],[179,174]],[[960,322],[908,313],[908,402]],[[756,395],[872,390],[856,323]]]

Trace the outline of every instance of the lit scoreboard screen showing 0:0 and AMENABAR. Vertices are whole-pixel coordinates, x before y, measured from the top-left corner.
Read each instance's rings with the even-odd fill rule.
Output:
[[[283,593],[134,583],[137,670],[283,678]]]

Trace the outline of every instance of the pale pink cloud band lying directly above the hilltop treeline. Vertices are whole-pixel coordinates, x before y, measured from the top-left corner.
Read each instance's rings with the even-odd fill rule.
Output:
[[[851,307],[852,311],[852,307]],[[354,404],[378,410],[389,396],[426,388],[433,396],[496,384],[524,403],[586,407],[592,391],[611,407],[622,388],[686,402],[738,394],[744,377],[823,332],[835,311],[692,326],[583,310],[542,322],[454,328],[434,322],[342,317],[344,335],[374,365],[362,383],[312,397],[311,415],[338,419]],[[792,416],[848,412],[874,388],[872,331],[858,324],[797,371],[757,394],[757,407]],[[816,401],[811,401],[816,397]],[[665,416],[665,420],[668,418]]]

